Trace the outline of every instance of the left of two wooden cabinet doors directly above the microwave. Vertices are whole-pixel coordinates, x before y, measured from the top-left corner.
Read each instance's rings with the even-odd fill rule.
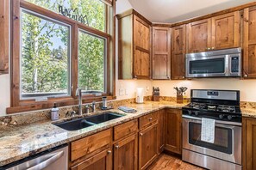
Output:
[[[211,19],[187,24],[187,53],[205,52],[210,48]]]

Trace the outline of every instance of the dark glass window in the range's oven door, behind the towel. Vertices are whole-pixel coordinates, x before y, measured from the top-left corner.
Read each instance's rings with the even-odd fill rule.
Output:
[[[213,149],[226,154],[232,154],[232,130],[215,126],[215,142],[207,143],[201,141],[201,124],[189,124],[189,142],[190,144],[201,146],[207,149]]]

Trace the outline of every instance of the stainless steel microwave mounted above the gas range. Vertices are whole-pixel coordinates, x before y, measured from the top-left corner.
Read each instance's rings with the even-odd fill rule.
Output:
[[[186,77],[241,75],[241,49],[186,54]]]

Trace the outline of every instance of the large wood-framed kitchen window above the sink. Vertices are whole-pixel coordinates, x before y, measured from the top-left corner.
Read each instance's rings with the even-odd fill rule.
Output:
[[[115,6],[101,0],[11,1],[7,113],[115,99]],[[108,70],[108,71],[107,71]]]

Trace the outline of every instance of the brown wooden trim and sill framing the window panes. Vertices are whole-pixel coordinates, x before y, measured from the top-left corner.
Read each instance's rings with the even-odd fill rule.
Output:
[[[107,2],[107,3],[106,3]],[[110,1],[103,1],[109,5]],[[108,100],[116,99],[116,71],[115,71],[115,52],[110,52],[115,49],[115,31],[113,31],[113,27],[115,27],[115,3],[113,1],[113,6],[106,5],[106,21],[109,21],[109,17],[112,17],[113,20],[111,24],[106,22],[106,33],[99,31],[93,27],[88,27],[83,23],[78,21],[73,21],[66,16],[59,15],[53,11],[48,9],[41,8],[33,3],[28,3],[25,0],[11,0],[11,68],[10,68],[10,107],[6,109],[6,112],[15,113],[15,112],[28,112],[40,109],[47,109],[53,107],[53,104],[56,102],[59,106],[72,106],[78,105],[78,97],[76,96],[76,87],[78,87],[78,29],[83,29],[84,31],[92,34],[96,34],[99,37],[103,37],[106,39],[106,46],[108,48],[106,58],[107,58],[107,93],[102,94],[102,96],[96,96],[95,94],[84,94],[83,95],[83,103],[88,103],[91,101],[100,101],[103,96],[107,96]],[[112,4],[112,3],[111,3]],[[28,9],[40,15],[45,15],[53,20],[64,22],[68,25],[71,25],[72,30],[72,53],[71,53],[71,82],[72,82],[72,90],[71,96],[64,96],[58,98],[48,97],[47,101],[35,101],[35,100],[20,100],[20,9]],[[109,8],[112,8],[112,13],[109,11]],[[111,16],[109,16],[111,14]],[[113,26],[112,26],[113,25]],[[110,31],[111,30],[111,31]],[[113,67],[113,68],[112,68]],[[111,71],[109,71],[111,70]],[[113,88],[111,88],[113,87]]]

